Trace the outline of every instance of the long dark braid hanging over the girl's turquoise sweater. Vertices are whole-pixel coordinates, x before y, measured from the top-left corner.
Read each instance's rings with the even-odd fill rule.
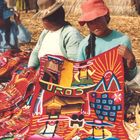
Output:
[[[90,33],[90,37],[88,39],[88,46],[86,47],[86,55],[87,59],[90,57],[95,56],[95,35],[93,33]]]

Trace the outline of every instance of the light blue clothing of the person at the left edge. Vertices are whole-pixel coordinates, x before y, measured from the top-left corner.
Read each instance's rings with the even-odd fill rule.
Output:
[[[19,48],[19,43],[28,43],[31,41],[30,32],[22,25],[12,22],[10,29],[10,42],[6,42],[5,30],[0,29],[0,52],[8,49]]]

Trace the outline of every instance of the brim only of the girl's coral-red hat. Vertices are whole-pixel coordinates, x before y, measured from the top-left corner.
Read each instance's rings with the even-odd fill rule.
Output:
[[[85,13],[83,14],[78,22],[81,26],[83,26],[85,23],[95,20],[99,17],[105,16],[107,13],[109,12],[109,10],[107,8],[100,8],[99,10],[93,10],[91,12]]]

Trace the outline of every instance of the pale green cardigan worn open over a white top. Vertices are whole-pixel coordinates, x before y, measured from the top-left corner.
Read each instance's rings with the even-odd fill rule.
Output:
[[[48,30],[45,29],[41,33],[39,40],[29,58],[28,67],[35,68],[39,67],[38,52],[41,47],[42,41],[47,33]],[[70,25],[64,26],[60,34],[60,44],[59,44],[63,56],[70,60],[76,60],[79,43],[81,42],[82,39],[83,36],[81,36],[81,34],[77,29],[75,29]]]

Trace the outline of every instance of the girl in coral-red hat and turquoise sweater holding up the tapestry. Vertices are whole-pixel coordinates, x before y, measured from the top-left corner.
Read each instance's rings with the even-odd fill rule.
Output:
[[[131,42],[128,36],[108,27],[109,9],[103,0],[85,0],[81,9],[83,14],[79,23],[80,25],[87,24],[90,35],[80,43],[77,59],[85,60],[119,46],[118,53],[124,58],[125,79],[133,79],[137,68]]]

